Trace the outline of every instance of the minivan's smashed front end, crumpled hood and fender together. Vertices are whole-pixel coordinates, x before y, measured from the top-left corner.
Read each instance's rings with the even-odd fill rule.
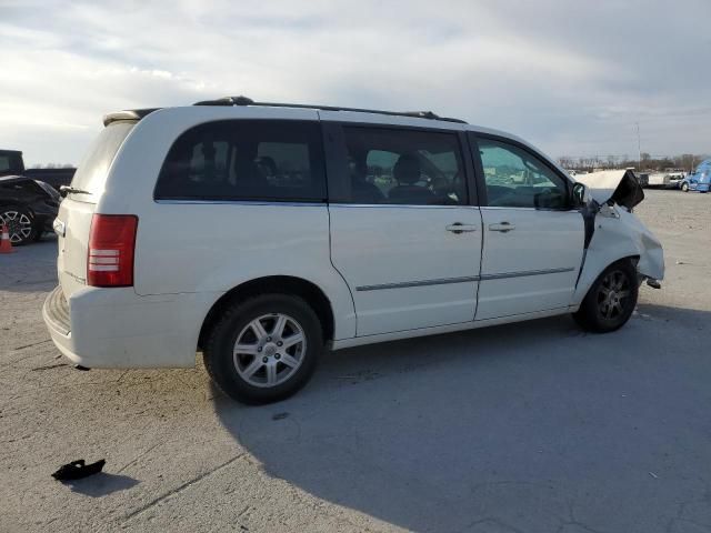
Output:
[[[664,278],[661,242],[632,212],[644,191],[630,170],[593,172],[575,177],[590,193],[581,209],[585,220],[585,252],[577,294],[584,296],[590,284],[608,265],[624,258],[637,263],[640,283],[660,288]],[[578,294],[579,295],[579,294]]]

